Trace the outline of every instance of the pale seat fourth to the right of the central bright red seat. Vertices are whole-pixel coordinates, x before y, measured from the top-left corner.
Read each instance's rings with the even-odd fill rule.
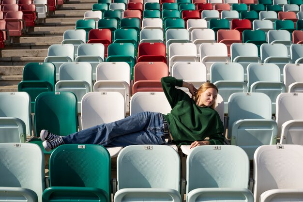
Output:
[[[285,64],[292,63],[284,44],[262,44],[260,47],[261,60],[264,63],[274,63],[279,66],[281,80]]]

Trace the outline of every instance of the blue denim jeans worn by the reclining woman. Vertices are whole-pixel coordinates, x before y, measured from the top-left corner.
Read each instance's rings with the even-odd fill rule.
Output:
[[[157,114],[157,115],[156,115]],[[159,117],[162,117],[162,114],[155,112],[141,112],[133,114],[129,117],[121,119],[116,122],[108,124],[100,124],[87,128],[76,133],[70,134],[68,136],[63,136],[63,141],[65,144],[73,143],[82,143],[82,144],[101,144],[107,146],[117,137],[127,135],[125,137],[127,140],[132,139],[135,134],[140,136],[146,133],[147,128],[156,128],[159,126]],[[154,119],[158,119],[157,121]],[[163,122],[163,119],[162,119]],[[134,134],[133,136],[129,134]],[[144,136],[145,137],[145,136]],[[140,144],[139,142],[134,142],[134,144]],[[121,145],[125,146],[125,145]]]

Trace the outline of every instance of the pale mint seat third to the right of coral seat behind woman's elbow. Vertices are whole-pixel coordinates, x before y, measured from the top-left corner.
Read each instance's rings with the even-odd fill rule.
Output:
[[[265,93],[272,101],[272,114],[275,114],[276,99],[285,93],[280,69],[271,63],[251,63],[247,66],[247,89],[249,92]]]

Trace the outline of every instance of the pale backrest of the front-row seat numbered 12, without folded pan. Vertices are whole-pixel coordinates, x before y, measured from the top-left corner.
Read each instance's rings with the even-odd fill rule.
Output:
[[[167,145],[124,147],[117,158],[117,180],[118,190],[169,188],[179,191],[179,155],[175,149]]]

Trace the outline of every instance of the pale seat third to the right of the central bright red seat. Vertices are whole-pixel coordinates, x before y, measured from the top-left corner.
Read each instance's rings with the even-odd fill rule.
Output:
[[[252,62],[262,62],[258,56],[258,47],[251,43],[233,43],[230,46],[230,57],[232,62],[238,62],[243,66],[244,80],[247,80],[248,64]]]

